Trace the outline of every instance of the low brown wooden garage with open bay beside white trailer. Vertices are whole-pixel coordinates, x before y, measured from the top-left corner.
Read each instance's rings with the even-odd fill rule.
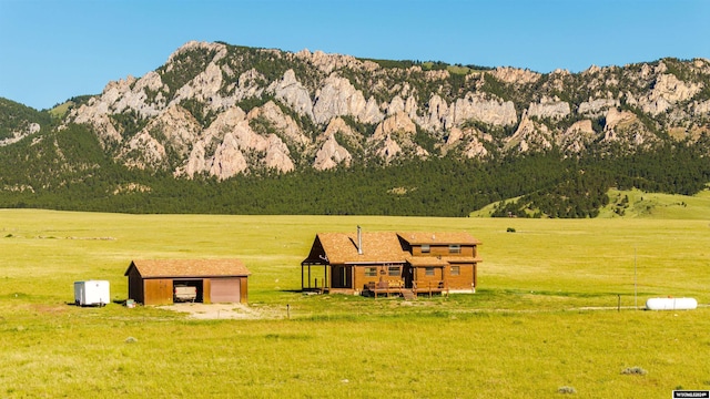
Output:
[[[250,272],[239,259],[133,260],[124,275],[129,299],[143,305],[247,301]]]

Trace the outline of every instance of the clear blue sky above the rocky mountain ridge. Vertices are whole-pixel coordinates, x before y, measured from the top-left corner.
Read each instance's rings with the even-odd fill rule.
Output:
[[[708,0],[0,0],[0,96],[36,109],[190,40],[538,72],[710,59]]]

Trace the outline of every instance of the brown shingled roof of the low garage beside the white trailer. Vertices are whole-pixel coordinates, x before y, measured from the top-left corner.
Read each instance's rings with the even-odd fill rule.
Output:
[[[125,270],[135,268],[143,278],[150,277],[230,277],[251,273],[239,259],[150,259],[133,260]]]

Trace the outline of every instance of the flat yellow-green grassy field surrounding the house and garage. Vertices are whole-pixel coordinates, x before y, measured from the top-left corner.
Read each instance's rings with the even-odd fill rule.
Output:
[[[0,211],[0,397],[669,398],[673,389],[708,390],[710,222],[694,215]],[[298,293],[315,234],[356,225],[471,233],[484,242],[478,293],[416,301]],[[194,320],[152,307],[67,305],[73,282],[90,278],[110,280],[112,297],[125,299],[131,259],[212,257],[243,259],[253,273],[251,307],[272,317]],[[700,306],[640,310],[647,298],[667,296]]]

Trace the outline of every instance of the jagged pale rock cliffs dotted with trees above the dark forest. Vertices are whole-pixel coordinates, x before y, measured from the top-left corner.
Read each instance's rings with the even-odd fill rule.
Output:
[[[584,156],[708,134],[710,61],[462,72],[189,42],[158,70],[110,82],[67,122],[92,126],[128,166],[184,178],[554,147]]]

